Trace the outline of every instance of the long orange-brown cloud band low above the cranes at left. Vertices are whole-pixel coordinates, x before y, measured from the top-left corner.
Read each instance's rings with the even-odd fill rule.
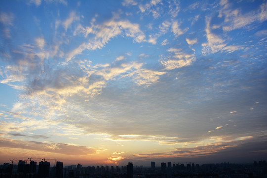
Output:
[[[20,141],[0,138],[0,147],[20,148],[28,150],[45,151],[65,155],[88,155],[95,154],[96,149],[87,146],[71,145],[66,143],[46,143],[37,141]]]

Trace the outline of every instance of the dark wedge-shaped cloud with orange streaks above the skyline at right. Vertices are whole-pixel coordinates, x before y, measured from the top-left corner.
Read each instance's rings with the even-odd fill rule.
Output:
[[[209,161],[214,161],[216,158],[220,161],[231,161],[236,162],[236,160],[242,160],[241,162],[253,161],[255,158],[259,159],[262,155],[260,152],[266,152],[265,146],[266,136],[248,138],[246,140],[229,141],[225,142],[215,142],[203,146],[196,147],[177,147],[172,152],[152,152],[152,153],[136,153],[134,156],[136,159],[141,160],[151,160],[153,159],[166,159],[179,158],[181,162],[183,161],[197,161],[201,163],[207,163]],[[264,140],[261,140],[264,139]],[[257,150],[257,151],[254,151]],[[244,155],[251,155],[249,157],[244,157]]]

